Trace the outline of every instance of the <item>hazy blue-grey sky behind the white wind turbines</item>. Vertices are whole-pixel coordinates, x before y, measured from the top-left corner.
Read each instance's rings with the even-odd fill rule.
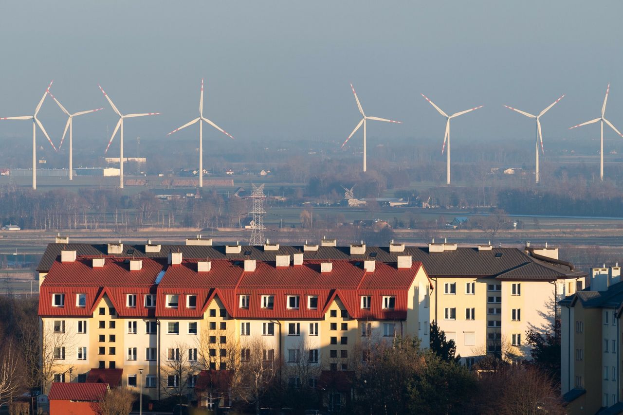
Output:
[[[204,114],[237,140],[321,139],[341,143],[359,121],[350,82],[371,122],[372,144],[437,140],[445,112],[456,140],[525,139],[534,123],[502,107],[543,117],[545,145],[584,140],[599,116],[623,130],[623,2],[612,1],[7,1],[0,3],[0,117],[29,115],[45,87],[77,118],[74,135],[101,140],[121,112],[126,138],[166,135]],[[65,118],[52,100],[40,117],[58,143]],[[0,137],[30,134],[28,122],[0,122]],[[179,138],[197,135],[197,128]],[[209,140],[226,140],[205,130]],[[617,140],[606,133],[607,140]],[[116,141],[117,139],[115,139]],[[354,138],[353,140],[361,140]],[[619,138],[621,140],[621,138]],[[145,141],[143,141],[145,142]],[[28,147],[29,148],[29,147]]]

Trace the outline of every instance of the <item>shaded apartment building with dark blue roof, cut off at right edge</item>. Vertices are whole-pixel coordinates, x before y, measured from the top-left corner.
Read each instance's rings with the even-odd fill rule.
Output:
[[[621,267],[592,269],[590,287],[559,304],[561,389],[568,413],[623,413]]]

